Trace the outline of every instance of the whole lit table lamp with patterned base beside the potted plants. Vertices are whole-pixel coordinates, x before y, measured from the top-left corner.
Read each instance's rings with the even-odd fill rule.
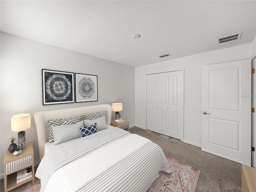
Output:
[[[26,148],[25,130],[31,127],[30,114],[21,113],[11,117],[12,131],[18,132],[18,146],[21,150]]]

